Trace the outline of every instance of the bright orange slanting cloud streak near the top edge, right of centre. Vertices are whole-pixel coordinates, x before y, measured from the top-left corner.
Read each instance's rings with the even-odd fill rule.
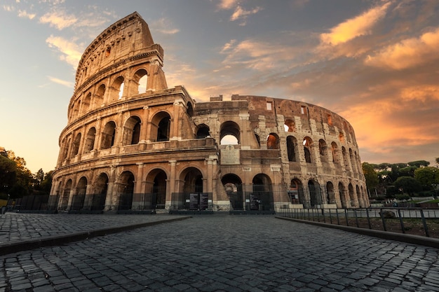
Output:
[[[376,23],[384,18],[387,8],[390,3],[386,3],[382,6],[371,8],[369,11],[346,20],[340,23],[336,27],[330,29],[330,33],[320,34],[320,41],[323,44],[336,46],[339,43],[346,43],[355,39],[358,36],[365,36],[371,34],[372,28]]]

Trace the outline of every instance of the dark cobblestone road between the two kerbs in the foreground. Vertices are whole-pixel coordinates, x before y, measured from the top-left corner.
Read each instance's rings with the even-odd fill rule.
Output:
[[[0,291],[439,291],[438,252],[273,216],[205,215],[1,256]]]

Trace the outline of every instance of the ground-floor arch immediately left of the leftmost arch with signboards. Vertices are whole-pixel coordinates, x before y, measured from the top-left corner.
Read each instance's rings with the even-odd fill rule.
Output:
[[[151,194],[150,209],[165,209],[167,179],[168,175],[163,169],[153,169],[147,175],[146,193]]]

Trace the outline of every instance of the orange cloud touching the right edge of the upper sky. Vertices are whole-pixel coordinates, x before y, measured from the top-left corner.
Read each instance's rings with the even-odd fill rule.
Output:
[[[419,64],[439,60],[439,28],[426,32],[418,38],[404,39],[386,46],[365,59],[365,64],[387,69],[407,69]]]

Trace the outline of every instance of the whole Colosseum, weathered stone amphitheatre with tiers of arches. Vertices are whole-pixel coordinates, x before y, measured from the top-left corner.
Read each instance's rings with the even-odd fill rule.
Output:
[[[69,212],[367,207],[347,120],[273,97],[196,102],[168,88],[163,48],[132,13],[83,53],[50,204]]]

